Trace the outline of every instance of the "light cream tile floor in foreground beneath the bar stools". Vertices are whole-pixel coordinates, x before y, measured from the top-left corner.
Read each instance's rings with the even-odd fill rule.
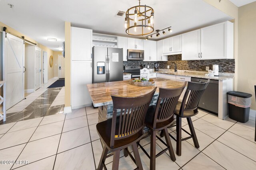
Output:
[[[85,107],[70,114],[55,114],[35,119],[0,125],[0,159],[27,161],[28,164],[0,164],[0,170],[95,170],[102,153],[96,132],[98,109]],[[186,119],[183,128],[189,129]],[[192,139],[182,142],[182,156],[172,162],[168,152],[156,159],[157,170],[255,170],[255,121],[238,123],[229,118],[220,120],[200,110],[193,117],[200,148]],[[175,136],[175,128],[169,129]],[[182,133],[182,137],[187,137]],[[172,140],[172,139],[171,139]],[[149,138],[140,143],[150,152]],[[157,141],[157,152],[164,148]],[[176,143],[172,140],[174,151]],[[139,149],[144,170],[149,170],[149,159]],[[134,169],[130,157],[120,154],[120,170]],[[112,168],[112,158],[106,167]]]

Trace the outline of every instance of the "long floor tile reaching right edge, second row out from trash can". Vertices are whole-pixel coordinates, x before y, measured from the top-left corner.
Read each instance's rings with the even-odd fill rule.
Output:
[[[251,158],[256,162],[256,144],[231,132],[225,132],[217,141]],[[246,146],[246,147],[241,147]]]

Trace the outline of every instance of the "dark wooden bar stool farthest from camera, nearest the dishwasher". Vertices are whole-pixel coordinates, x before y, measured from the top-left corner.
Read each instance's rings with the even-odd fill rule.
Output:
[[[199,143],[196,137],[195,129],[191,120],[191,117],[198,114],[198,104],[204,90],[208,86],[210,79],[207,82],[196,83],[188,82],[187,90],[184,94],[182,102],[178,102],[174,114],[176,115],[176,132],[177,138],[175,139],[171,134],[170,137],[176,141],[176,154],[181,155],[181,141],[193,138],[194,145],[199,148]],[[210,97],[210,96],[209,96]],[[187,118],[190,133],[181,127],[181,118]],[[175,125],[174,125],[175,126]],[[173,126],[172,126],[173,127]],[[181,139],[181,130],[188,133],[190,137]]]

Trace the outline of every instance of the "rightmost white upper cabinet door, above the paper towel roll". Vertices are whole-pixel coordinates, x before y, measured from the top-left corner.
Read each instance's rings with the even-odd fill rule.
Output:
[[[227,39],[225,23],[219,23],[201,29],[202,60],[226,58]]]

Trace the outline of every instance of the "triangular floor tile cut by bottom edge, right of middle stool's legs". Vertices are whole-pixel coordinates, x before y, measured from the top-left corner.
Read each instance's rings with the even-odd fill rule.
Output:
[[[222,166],[211,160],[202,152],[182,167],[183,170],[224,170]]]

